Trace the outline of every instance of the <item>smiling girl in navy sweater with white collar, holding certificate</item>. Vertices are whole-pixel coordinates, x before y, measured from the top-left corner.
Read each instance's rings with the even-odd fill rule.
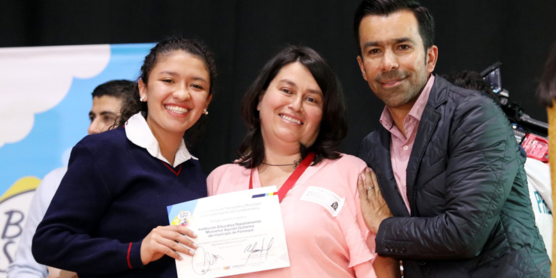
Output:
[[[80,278],[177,277],[178,252],[194,254],[197,236],[171,226],[166,207],[206,197],[206,176],[183,136],[208,113],[215,74],[199,40],[170,38],[151,49],[118,127],[72,149],[33,237],[39,263]]]

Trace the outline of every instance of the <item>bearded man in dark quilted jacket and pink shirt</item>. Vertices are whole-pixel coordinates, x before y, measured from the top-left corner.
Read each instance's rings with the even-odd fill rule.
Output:
[[[430,12],[363,1],[354,31],[363,79],[386,104],[359,150],[374,170],[359,193],[376,252],[402,259],[405,277],[548,277],[525,158],[491,99],[432,74]]]

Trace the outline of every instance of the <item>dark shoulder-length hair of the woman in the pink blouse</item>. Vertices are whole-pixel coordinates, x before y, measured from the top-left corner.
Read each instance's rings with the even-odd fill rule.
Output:
[[[261,119],[256,106],[272,79],[277,76],[282,67],[291,63],[301,63],[311,72],[324,97],[318,136],[311,146],[300,144],[302,158],[309,152],[317,154],[313,160],[314,163],[319,163],[322,158],[337,159],[341,157],[336,149],[347,133],[347,117],[340,81],[332,67],[317,51],[309,47],[288,46],[264,65],[241,101],[241,117],[247,124],[247,136],[238,150],[238,156],[243,161],[240,165],[244,167],[257,167],[263,162],[265,148],[261,134]]]

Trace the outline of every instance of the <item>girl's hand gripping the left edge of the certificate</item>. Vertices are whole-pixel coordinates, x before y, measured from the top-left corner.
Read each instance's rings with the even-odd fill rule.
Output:
[[[197,244],[193,243],[190,238],[197,238],[197,235],[185,226],[169,225],[158,226],[152,229],[152,231],[143,238],[141,243],[141,260],[143,265],[161,259],[164,255],[181,260],[181,256],[176,252],[190,255],[195,254],[193,250],[197,249]],[[179,243],[193,250],[189,250]]]

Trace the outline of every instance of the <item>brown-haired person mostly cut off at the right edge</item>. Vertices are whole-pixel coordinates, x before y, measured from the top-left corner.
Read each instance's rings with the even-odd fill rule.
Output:
[[[556,43],[553,44],[546,65],[544,67],[541,82],[537,88],[537,96],[541,100],[541,104],[546,106],[548,113],[548,163],[556,165]],[[550,179],[552,181],[552,199],[556,199],[556,167],[550,167]],[[554,244],[556,236],[553,231],[552,252],[556,251]],[[553,253],[554,256],[554,253]],[[556,273],[556,265],[552,266],[553,277]]]

